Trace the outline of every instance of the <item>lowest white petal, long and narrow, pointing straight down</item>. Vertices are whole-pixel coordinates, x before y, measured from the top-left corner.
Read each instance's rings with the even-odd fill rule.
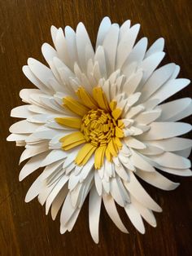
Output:
[[[98,244],[98,225],[101,203],[102,196],[98,196],[98,192],[93,186],[89,193],[89,230],[96,244]]]

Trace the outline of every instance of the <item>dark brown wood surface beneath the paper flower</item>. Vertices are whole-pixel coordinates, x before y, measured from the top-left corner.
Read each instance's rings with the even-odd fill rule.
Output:
[[[113,22],[130,19],[141,23],[139,37],[149,42],[164,37],[167,53],[164,62],[181,65],[181,77],[191,78],[191,1],[190,0],[0,0],[0,255],[191,255],[191,179],[171,177],[181,182],[173,192],[164,192],[145,184],[151,196],[164,209],[155,214],[157,227],[146,224],[146,234],[133,228],[124,211],[120,215],[130,234],[121,233],[102,208],[100,242],[94,244],[88,227],[88,202],[72,232],[59,234],[59,218],[53,222],[45,209],[34,200],[24,203],[24,196],[39,171],[19,183],[18,166],[23,148],[7,143],[8,128],[15,121],[11,108],[21,104],[19,91],[33,85],[21,67],[28,57],[44,61],[41,44],[51,42],[50,25],[73,28],[85,23],[92,42],[104,15]],[[191,87],[173,97],[189,96]],[[185,119],[190,121],[190,119]],[[142,183],[143,184],[143,183]]]

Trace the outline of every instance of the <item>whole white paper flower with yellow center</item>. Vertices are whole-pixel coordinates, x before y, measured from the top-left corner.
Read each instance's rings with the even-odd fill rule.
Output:
[[[162,172],[190,176],[191,140],[178,136],[191,130],[178,120],[192,113],[190,98],[164,103],[187,86],[179,66],[166,64],[164,39],[147,48],[136,44],[139,24],[127,20],[119,26],[105,17],[98,29],[95,50],[84,24],[76,32],[51,27],[55,49],[41,47],[46,65],[33,58],[23,71],[37,89],[24,89],[26,103],[11,111],[24,118],[11,126],[9,141],[24,146],[20,180],[40,167],[42,173],[29,188],[25,201],[38,197],[51,207],[52,218],[61,208],[60,232],[71,231],[89,194],[89,229],[98,243],[103,201],[107,214],[122,232],[116,204],[145,232],[142,218],[155,227],[152,211],[161,208],[137,177],[157,188],[172,190],[174,183]],[[156,169],[155,169],[156,168]]]

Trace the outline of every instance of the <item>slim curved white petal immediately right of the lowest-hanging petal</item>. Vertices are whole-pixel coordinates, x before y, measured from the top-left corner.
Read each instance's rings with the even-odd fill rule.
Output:
[[[127,228],[124,227],[124,224],[120,219],[120,215],[116,210],[116,204],[112,199],[112,197],[110,195],[103,194],[103,203],[104,203],[105,209],[107,210],[107,214],[109,215],[113,223],[116,224],[116,227],[119,227],[121,232],[129,233]]]

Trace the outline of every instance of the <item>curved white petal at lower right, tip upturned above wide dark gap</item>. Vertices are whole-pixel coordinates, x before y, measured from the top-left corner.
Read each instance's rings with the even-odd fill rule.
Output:
[[[137,170],[137,176],[141,179],[145,180],[146,183],[150,183],[156,188],[164,189],[164,190],[173,190],[179,186],[179,183],[174,183],[171,180],[165,178],[162,174],[155,171],[153,173],[147,173],[142,170]]]

